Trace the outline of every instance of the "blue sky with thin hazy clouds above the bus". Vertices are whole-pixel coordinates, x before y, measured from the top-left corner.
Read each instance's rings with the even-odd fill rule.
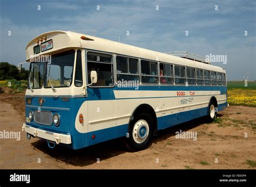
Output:
[[[0,62],[24,62],[29,41],[53,30],[96,30],[149,50],[221,55],[226,62],[211,64],[225,68],[228,80],[256,80],[256,1],[0,0]]]

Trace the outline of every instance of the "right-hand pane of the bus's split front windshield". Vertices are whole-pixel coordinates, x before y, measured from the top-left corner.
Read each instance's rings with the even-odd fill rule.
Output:
[[[51,63],[46,64],[44,87],[69,87],[72,83],[74,61],[74,50],[53,55]]]

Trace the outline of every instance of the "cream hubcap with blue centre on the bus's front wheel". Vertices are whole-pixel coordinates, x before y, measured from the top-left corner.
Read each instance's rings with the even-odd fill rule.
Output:
[[[149,124],[145,120],[139,120],[134,124],[132,137],[136,143],[143,143],[149,135]]]

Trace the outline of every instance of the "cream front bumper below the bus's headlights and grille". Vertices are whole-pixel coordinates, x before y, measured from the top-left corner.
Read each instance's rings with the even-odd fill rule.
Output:
[[[25,131],[26,133],[31,134],[34,137],[41,137],[45,140],[56,142],[57,144],[71,144],[71,135],[52,133],[51,131],[30,127],[25,123],[23,123],[22,131]]]

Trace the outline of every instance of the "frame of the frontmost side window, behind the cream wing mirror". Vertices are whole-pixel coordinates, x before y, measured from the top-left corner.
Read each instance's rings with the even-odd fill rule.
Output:
[[[96,61],[91,61],[92,63],[99,63],[99,64],[111,64],[111,73],[112,73],[112,79],[113,79],[113,85],[112,86],[92,86],[89,85],[88,82],[88,69],[87,69],[87,53],[88,52],[93,52],[93,53],[102,53],[102,54],[109,54],[112,57],[111,63],[102,63],[102,62],[96,62]],[[86,50],[85,51],[85,77],[86,77],[86,86],[90,88],[113,88],[115,86],[115,78],[114,78],[114,56],[112,53],[107,53],[107,52],[102,52],[102,51],[95,51],[95,50]]]

